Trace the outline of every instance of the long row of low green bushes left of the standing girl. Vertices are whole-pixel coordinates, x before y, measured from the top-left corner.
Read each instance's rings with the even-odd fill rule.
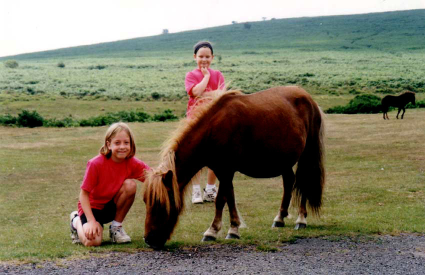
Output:
[[[178,117],[172,113],[172,110],[166,109],[162,113],[153,116],[142,111],[118,111],[108,112],[106,114],[89,117],[87,119],[75,120],[71,117],[63,119],[44,119],[35,110],[30,112],[22,110],[17,117],[10,114],[0,115],[0,125],[16,125],[19,127],[74,127],[74,126],[104,126],[113,122],[147,122],[147,121],[168,121],[175,120]]]

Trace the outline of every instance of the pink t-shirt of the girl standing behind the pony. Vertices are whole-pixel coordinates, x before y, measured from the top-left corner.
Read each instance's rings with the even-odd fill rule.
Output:
[[[216,89],[223,89],[224,86],[224,76],[219,70],[208,68],[209,71],[209,81],[206,85],[204,91],[212,91]],[[187,94],[189,95],[189,100],[187,102],[187,111],[186,116],[190,117],[190,112],[193,109],[193,106],[198,101],[198,98],[193,96],[192,88],[202,81],[203,74],[202,71],[198,68],[189,71],[186,73],[186,77],[184,78],[184,86],[186,88]]]

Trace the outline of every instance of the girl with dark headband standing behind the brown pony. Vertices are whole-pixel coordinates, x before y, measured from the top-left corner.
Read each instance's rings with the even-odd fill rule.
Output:
[[[193,58],[196,61],[197,68],[186,73],[184,85],[189,95],[187,102],[186,116],[191,117],[194,106],[198,99],[207,96],[207,93],[216,89],[225,89],[224,77],[219,70],[211,69],[212,59],[214,58],[212,45],[208,41],[200,41],[193,46]],[[192,203],[202,203],[202,201],[214,201],[217,196],[215,187],[215,174],[208,169],[206,188],[203,189],[203,198],[201,195],[199,174],[193,178]]]

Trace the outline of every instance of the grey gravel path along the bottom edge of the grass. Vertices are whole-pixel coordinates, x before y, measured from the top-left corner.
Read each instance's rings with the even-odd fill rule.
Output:
[[[211,244],[109,252],[38,264],[0,263],[0,274],[425,274],[425,235],[305,238],[277,251]]]

